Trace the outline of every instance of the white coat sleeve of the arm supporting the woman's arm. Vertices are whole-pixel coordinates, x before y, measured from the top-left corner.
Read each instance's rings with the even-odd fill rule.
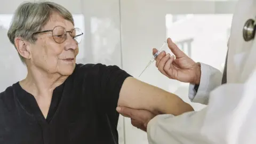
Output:
[[[149,144],[254,144],[256,73],[243,84],[224,84],[210,93],[201,111],[158,115],[148,123]]]

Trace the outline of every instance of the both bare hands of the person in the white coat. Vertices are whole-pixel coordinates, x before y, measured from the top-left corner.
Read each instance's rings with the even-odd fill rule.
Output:
[[[177,79],[181,82],[199,84],[201,78],[201,68],[199,63],[194,62],[185,53],[183,53],[171,38],[167,39],[169,49],[175,55],[170,57],[170,54],[161,52],[156,59],[156,67],[165,76],[171,79]],[[157,52],[153,49],[153,55]],[[133,126],[147,131],[148,122],[157,114],[147,110],[131,109],[128,107],[117,107],[118,113],[125,117],[131,118]]]

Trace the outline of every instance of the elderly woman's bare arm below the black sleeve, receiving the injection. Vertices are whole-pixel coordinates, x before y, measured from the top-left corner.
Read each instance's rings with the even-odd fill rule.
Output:
[[[133,77],[125,79],[119,93],[118,106],[173,115],[193,109],[177,95],[141,82]]]

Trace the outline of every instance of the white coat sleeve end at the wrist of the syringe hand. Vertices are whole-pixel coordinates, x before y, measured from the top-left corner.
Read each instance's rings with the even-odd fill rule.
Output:
[[[197,92],[195,85],[189,84],[188,97],[191,102],[208,104],[209,93],[221,85],[222,73],[209,65],[201,63],[201,79]]]

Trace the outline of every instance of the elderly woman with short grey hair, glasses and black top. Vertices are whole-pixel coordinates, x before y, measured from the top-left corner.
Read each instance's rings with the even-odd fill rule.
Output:
[[[59,4],[21,4],[7,35],[28,73],[0,93],[0,143],[118,143],[117,106],[193,110],[117,66],[76,64],[83,33]]]

